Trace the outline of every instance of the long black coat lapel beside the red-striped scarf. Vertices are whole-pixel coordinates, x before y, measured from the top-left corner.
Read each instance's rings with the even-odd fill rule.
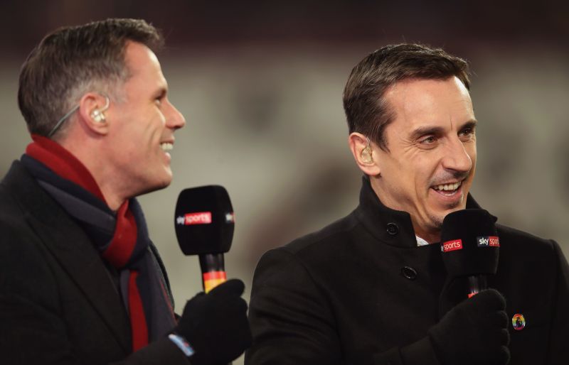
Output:
[[[78,285],[124,352],[131,352],[126,311],[85,231],[38,185],[19,161],[12,164],[3,184],[13,193],[38,238],[68,273],[70,280]]]

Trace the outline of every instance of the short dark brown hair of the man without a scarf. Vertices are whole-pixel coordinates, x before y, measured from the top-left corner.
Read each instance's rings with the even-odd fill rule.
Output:
[[[384,131],[395,114],[383,97],[388,87],[405,79],[446,80],[453,76],[470,89],[467,62],[440,48],[398,44],[374,51],[353,67],[344,88],[349,133],[368,136],[389,151]]]

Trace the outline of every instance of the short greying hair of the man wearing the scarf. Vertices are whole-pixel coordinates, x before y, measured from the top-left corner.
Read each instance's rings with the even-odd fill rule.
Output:
[[[18,106],[31,134],[48,136],[85,92],[113,93],[129,78],[127,42],[157,51],[161,33],[139,19],[107,19],[58,28],[34,48],[21,67]]]

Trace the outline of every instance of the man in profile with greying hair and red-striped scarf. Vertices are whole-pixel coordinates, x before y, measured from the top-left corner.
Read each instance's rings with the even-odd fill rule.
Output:
[[[135,197],[168,186],[174,132],[145,21],[60,28],[21,68],[33,142],[0,184],[2,364],[223,364],[250,344],[243,282],[174,314]]]

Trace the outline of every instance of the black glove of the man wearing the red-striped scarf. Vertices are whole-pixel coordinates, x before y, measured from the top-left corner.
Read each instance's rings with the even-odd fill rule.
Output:
[[[250,347],[244,289],[243,281],[232,279],[188,300],[174,332],[193,347],[193,365],[227,364]]]

